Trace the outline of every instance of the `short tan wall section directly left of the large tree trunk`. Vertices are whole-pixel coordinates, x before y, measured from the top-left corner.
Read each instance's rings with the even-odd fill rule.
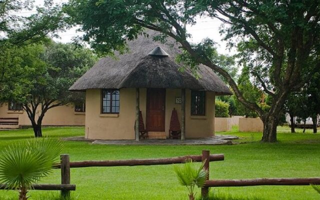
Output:
[[[263,123],[260,118],[239,118],[240,132],[262,132]]]

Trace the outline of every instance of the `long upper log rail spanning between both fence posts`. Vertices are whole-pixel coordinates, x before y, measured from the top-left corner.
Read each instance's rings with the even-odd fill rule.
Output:
[[[90,166],[137,166],[137,165],[159,165],[159,164],[176,164],[181,163],[185,159],[191,158],[195,162],[202,161],[201,155],[186,155],[170,158],[157,158],[157,159],[128,159],[128,160],[85,160],[70,162],[70,168],[76,167],[90,167]],[[224,160],[224,154],[211,154],[209,161]],[[55,167],[60,168],[60,164]]]

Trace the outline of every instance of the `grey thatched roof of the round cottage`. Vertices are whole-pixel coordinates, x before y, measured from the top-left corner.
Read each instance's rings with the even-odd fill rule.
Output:
[[[225,83],[207,66],[200,65],[196,79],[189,69],[181,72],[174,61],[180,52],[174,40],[165,44],[152,40],[156,31],[149,37],[139,36],[128,41],[129,52],[101,58],[92,68],[82,75],[69,90],[92,88],[188,88],[214,91],[217,95],[231,94]]]

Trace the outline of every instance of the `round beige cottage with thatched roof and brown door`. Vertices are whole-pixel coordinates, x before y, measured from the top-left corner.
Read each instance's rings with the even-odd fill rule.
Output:
[[[214,97],[230,90],[207,66],[199,66],[198,79],[188,69],[179,71],[175,41],[162,44],[152,40],[154,34],[129,41],[129,52],[117,59],[100,59],[70,87],[86,92],[86,138],[138,140],[139,132],[147,132],[146,138],[172,133],[181,139],[214,134]]]

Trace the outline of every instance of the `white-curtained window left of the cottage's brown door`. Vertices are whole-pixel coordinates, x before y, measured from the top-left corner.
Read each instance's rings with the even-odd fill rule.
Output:
[[[119,113],[120,100],[118,89],[102,89],[101,113]]]

